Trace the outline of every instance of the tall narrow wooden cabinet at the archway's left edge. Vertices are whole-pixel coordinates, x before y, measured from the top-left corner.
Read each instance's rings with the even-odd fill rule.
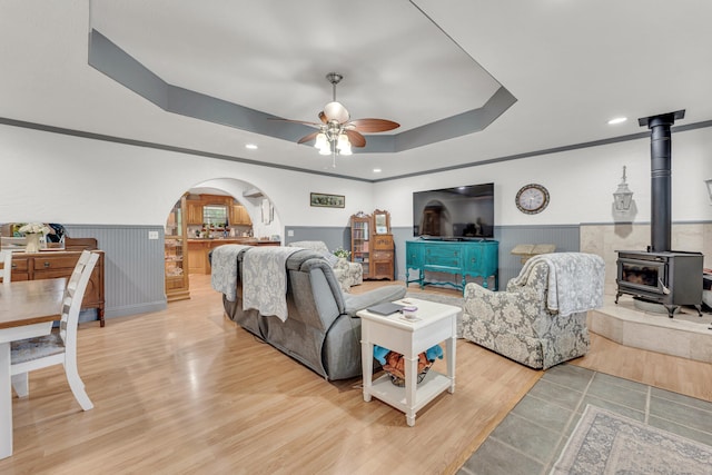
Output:
[[[184,196],[176,202],[166,220],[166,299],[168,301],[190,298],[185,210],[186,197]]]

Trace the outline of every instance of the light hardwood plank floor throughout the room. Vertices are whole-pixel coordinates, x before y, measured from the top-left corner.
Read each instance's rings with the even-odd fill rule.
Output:
[[[13,399],[14,455],[0,473],[449,474],[542,375],[458,340],[455,394],[408,427],[365,403],[359,379],[328,383],[225,318],[209,276],[191,276],[191,297],[82,324],[79,370],[95,408],[81,412],[61,367],[33,372],[30,396]],[[595,336],[573,363],[712,400],[712,365]]]

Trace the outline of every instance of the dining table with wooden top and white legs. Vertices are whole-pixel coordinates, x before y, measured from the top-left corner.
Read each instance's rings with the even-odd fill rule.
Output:
[[[49,335],[59,320],[67,279],[0,284],[0,458],[12,455],[10,344]]]

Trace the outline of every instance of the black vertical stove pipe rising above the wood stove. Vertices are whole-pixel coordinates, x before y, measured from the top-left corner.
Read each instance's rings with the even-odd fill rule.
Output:
[[[649,251],[671,250],[672,186],[670,127],[685,116],[684,110],[637,119],[651,130],[651,246]]]

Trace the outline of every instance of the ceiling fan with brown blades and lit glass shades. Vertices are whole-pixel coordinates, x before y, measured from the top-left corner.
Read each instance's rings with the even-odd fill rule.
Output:
[[[365,147],[366,138],[363,133],[385,132],[400,127],[399,123],[386,119],[350,119],[348,110],[336,101],[336,85],[344,76],[329,72],[326,79],[332,83],[332,102],[324,106],[318,117],[322,123],[305,120],[278,119],[288,122],[304,123],[318,130],[301,137],[297,144],[315,140],[314,146],[320,155],[330,155],[336,167],[337,155],[352,155],[352,147]]]

